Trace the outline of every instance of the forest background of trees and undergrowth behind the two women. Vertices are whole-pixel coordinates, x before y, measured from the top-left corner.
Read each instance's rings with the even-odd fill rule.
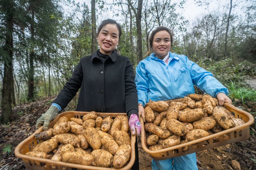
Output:
[[[216,3],[219,2],[216,0]],[[233,103],[256,102],[246,80],[256,75],[256,1],[229,0],[218,10],[187,20],[186,0],[0,0],[0,121],[19,114],[16,105],[54,100],[79,59],[98,49],[96,29],[102,13],[122,26],[118,51],[135,68],[149,50],[151,31],[174,32],[171,52],[184,54],[213,73],[229,89]],[[194,0],[209,9],[209,0]],[[191,11],[192,13],[193,11]],[[79,93],[78,93],[79,94]],[[69,105],[74,110],[78,97]],[[251,114],[255,114],[252,109]]]

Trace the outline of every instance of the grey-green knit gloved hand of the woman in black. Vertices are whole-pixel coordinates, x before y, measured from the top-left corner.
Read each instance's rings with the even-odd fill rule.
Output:
[[[46,113],[42,114],[40,118],[37,119],[36,129],[43,126],[43,130],[47,130],[49,127],[50,121],[55,119],[57,114],[59,113],[59,109],[56,106],[50,106],[50,108],[46,111]]]

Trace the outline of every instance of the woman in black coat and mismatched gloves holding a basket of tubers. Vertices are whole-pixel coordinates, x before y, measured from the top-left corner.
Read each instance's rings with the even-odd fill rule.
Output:
[[[132,135],[139,136],[138,96],[132,63],[118,54],[116,47],[121,27],[113,19],[106,19],[98,27],[100,49],[80,59],[72,77],[66,82],[48,111],[37,120],[36,128],[49,127],[80,89],[76,111],[127,113]],[[137,148],[137,141],[135,143]],[[133,169],[139,169],[138,148]]]

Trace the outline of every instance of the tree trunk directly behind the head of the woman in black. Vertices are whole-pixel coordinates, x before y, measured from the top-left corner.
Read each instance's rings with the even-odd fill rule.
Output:
[[[91,1],[91,22],[92,22],[92,46],[91,46],[91,53],[97,50],[97,34],[96,34],[96,15],[95,15],[95,0]]]

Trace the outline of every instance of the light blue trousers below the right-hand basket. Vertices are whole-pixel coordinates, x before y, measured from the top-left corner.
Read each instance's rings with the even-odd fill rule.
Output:
[[[172,166],[172,161],[174,165]],[[196,164],[196,153],[187,154],[184,156],[165,159],[165,160],[152,160],[152,170],[198,170]]]

